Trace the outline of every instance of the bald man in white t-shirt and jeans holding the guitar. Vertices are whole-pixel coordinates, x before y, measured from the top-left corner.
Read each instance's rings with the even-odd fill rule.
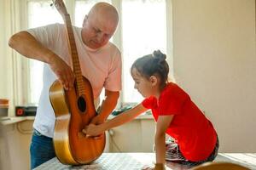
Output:
[[[113,111],[121,90],[121,55],[109,42],[119,22],[116,8],[108,3],[96,3],[85,15],[83,27],[73,26],[82,74],[92,86],[96,108],[102,88],[105,99],[92,123],[104,122]],[[30,148],[31,168],[55,157],[53,135],[55,112],[49,102],[49,87],[56,79],[68,90],[73,87],[65,26],[52,24],[20,31],[9,39],[9,46],[30,59],[44,62],[44,86],[33,123]]]

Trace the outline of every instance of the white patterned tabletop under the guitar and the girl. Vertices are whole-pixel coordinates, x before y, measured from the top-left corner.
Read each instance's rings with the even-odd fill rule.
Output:
[[[256,170],[256,154],[219,153],[215,161],[235,162],[236,164],[241,164],[242,166]],[[154,153],[103,153],[99,159],[90,165],[67,166],[62,165],[57,158],[53,158],[35,169],[139,170],[145,165],[153,163]],[[173,162],[167,162],[166,165],[169,169],[173,170],[187,170],[191,168]]]

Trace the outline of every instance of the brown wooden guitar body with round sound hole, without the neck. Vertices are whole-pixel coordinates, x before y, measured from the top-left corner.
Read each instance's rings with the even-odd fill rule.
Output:
[[[59,81],[49,89],[49,98],[55,111],[55,154],[63,164],[87,164],[102,155],[105,133],[98,138],[86,138],[82,129],[96,116],[90,82],[84,77],[87,93],[79,96],[77,90],[64,90]],[[76,87],[76,86],[74,86]]]

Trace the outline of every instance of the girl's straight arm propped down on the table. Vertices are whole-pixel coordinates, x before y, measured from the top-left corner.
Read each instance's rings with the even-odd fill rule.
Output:
[[[157,164],[165,164],[166,161],[166,129],[172,122],[172,118],[173,116],[159,116],[156,122],[154,144]]]

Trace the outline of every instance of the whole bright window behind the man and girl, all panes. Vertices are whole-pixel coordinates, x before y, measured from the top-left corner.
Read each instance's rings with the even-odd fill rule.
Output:
[[[73,6],[69,12],[74,19],[75,26],[82,26],[84,15],[98,0],[69,0],[66,4]],[[102,1],[101,1],[102,2]],[[140,102],[143,98],[135,90],[130,75],[130,67],[135,59],[145,54],[151,54],[155,49],[166,53],[166,0],[122,0],[104,2],[112,3],[119,11],[119,30],[116,38],[111,39],[122,52],[123,58],[123,88],[121,103]],[[61,15],[55,8],[50,7],[51,1],[29,0],[28,23],[29,28],[46,24],[62,22]],[[119,3],[119,4],[117,4]],[[132,11],[132,12],[131,12]],[[73,15],[72,15],[73,14]],[[40,17],[44,16],[44,17]],[[30,87],[31,102],[38,103],[42,88],[42,63],[31,60]],[[38,75],[41,76],[38,76]]]

